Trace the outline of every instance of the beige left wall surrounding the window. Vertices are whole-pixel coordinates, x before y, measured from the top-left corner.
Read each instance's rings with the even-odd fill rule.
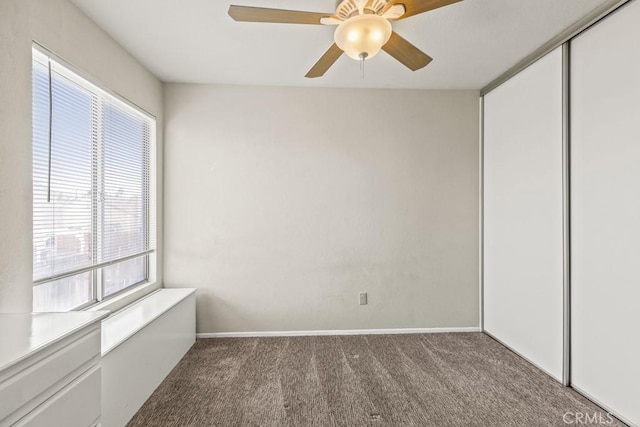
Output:
[[[162,206],[160,81],[69,0],[0,0],[0,312],[31,310],[32,40],[157,117]],[[161,283],[162,265],[158,272]]]

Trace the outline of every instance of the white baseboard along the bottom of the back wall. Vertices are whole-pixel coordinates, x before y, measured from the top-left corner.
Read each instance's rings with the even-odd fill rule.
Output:
[[[257,331],[257,332],[205,332],[196,338],[249,338],[249,337],[312,337],[326,335],[398,335],[436,334],[447,332],[480,332],[476,326],[461,328],[400,328],[400,329],[333,329],[320,331]]]

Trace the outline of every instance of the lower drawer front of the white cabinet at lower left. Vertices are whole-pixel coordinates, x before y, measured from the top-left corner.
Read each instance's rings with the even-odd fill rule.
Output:
[[[20,427],[89,427],[100,418],[100,366],[76,378],[15,425]]]

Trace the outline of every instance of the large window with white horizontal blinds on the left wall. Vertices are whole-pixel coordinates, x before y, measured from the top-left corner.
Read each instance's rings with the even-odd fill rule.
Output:
[[[33,50],[34,311],[149,279],[155,120]]]

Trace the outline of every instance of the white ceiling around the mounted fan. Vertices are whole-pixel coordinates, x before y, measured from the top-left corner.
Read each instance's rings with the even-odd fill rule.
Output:
[[[335,0],[72,0],[166,82],[311,87],[480,89],[604,0],[464,0],[394,22],[434,58],[411,72],[381,52],[343,55],[304,77],[333,43],[335,27],[235,22],[230,4],[313,12]]]

